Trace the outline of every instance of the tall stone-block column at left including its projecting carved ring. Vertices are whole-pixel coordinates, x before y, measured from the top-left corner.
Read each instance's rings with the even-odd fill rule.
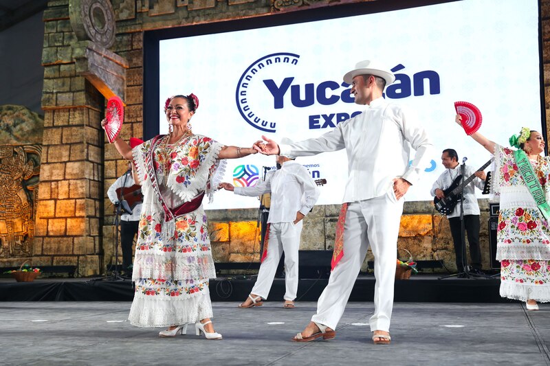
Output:
[[[83,276],[102,268],[104,97],[124,97],[126,63],[104,48],[114,42],[110,6],[107,0],[59,0],[44,13],[45,121],[34,253],[41,264],[76,265]],[[109,62],[118,69],[106,78],[102,70]]]

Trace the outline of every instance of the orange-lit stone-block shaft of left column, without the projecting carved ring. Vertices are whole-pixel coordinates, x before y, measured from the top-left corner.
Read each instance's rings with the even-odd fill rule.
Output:
[[[102,253],[104,98],[76,72],[69,1],[44,12],[43,161],[33,266],[99,273]]]

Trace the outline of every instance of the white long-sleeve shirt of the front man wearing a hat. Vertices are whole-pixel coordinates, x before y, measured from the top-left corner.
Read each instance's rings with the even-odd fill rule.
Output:
[[[409,165],[410,147],[416,150]],[[281,155],[310,156],[346,149],[349,179],[343,202],[383,196],[393,190],[393,179],[411,184],[430,165],[433,145],[428,133],[410,112],[380,97],[363,113],[338,124],[320,137],[279,145]]]

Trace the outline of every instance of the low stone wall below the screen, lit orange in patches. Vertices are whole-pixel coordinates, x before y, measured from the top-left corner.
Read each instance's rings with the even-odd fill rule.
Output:
[[[488,200],[479,200],[479,205],[482,211],[480,244],[483,268],[489,269]],[[304,218],[300,250],[332,250],[339,213],[340,205],[314,207]],[[216,262],[259,262],[260,229],[256,229],[257,217],[256,209],[208,211],[212,253]],[[397,247],[410,252],[414,260],[443,261],[443,268],[428,271],[456,270],[449,222],[445,216],[433,212],[431,202],[405,203]],[[408,259],[406,251],[399,251],[400,259]],[[469,255],[468,251],[468,258]],[[369,249],[363,271],[367,270],[366,262],[372,260]]]

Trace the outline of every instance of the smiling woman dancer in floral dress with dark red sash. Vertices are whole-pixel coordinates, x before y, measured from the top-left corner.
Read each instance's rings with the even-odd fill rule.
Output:
[[[216,277],[206,215],[201,205],[221,181],[225,161],[256,153],[253,148],[223,146],[191,131],[199,106],[193,95],[175,95],[164,111],[170,133],[130,148],[120,137],[114,144],[132,160],[142,184],[129,320],[138,327],[168,327],[159,336],[196,333],[221,339],[214,331],[208,280]],[[105,122],[102,122],[104,126]]]

